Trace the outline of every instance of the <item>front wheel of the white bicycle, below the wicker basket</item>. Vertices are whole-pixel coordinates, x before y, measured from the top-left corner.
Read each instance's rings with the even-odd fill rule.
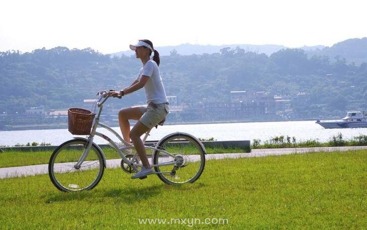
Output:
[[[86,145],[86,140],[70,140],[60,145],[51,155],[48,175],[60,191],[91,190],[102,178],[103,154],[94,144],[80,167],[76,167]]]

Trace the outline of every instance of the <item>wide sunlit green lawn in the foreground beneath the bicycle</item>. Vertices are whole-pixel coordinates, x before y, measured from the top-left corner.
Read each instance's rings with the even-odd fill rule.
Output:
[[[167,186],[107,169],[87,192],[62,193],[48,175],[0,179],[2,228],[187,228],[139,218],[222,218],[194,227],[365,228],[367,151],[211,160],[199,180]]]

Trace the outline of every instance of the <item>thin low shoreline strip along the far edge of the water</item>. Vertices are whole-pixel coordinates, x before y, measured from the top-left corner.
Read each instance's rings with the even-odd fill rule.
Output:
[[[166,122],[164,125],[186,125],[186,124],[227,124],[227,123],[254,123],[254,122],[285,122],[285,121],[316,121],[317,118],[305,119],[290,119],[290,120],[220,120],[220,121],[186,121],[186,122]],[[136,122],[131,122],[134,125]],[[118,123],[109,125],[111,127],[118,127]],[[0,129],[0,131],[21,131],[21,130],[44,130],[44,129],[67,129],[68,123],[59,124],[33,124],[33,125],[14,125],[7,126],[7,129]]]

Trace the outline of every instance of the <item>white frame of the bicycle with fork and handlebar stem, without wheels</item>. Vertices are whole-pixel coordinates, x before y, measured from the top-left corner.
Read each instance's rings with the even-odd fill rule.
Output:
[[[106,95],[107,94],[107,95]],[[103,98],[103,101],[102,102],[99,102],[99,100],[101,98]],[[129,166],[131,166],[135,171],[137,171],[137,167],[141,167],[142,164],[138,164],[138,163],[134,163],[134,161],[138,158],[138,154],[136,153],[133,158],[131,159],[131,161],[129,159],[126,158],[125,154],[123,153],[124,150],[126,149],[132,149],[132,148],[135,148],[134,145],[131,145],[130,143],[127,143],[125,142],[125,140],[123,140],[123,138],[115,131],[113,130],[111,127],[109,127],[108,125],[106,124],[103,124],[103,123],[100,123],[99,122],[99,117],[100,117],[100,114],[102,112],[102,109],[103,109],[103,103],[107,101],[107,99],[110,97],[110,95],[108,93],[104,93],[102,94],[102,96],[100,96],[100,98],[97,100],[97,106],[99,107],[99,111],[98,111],[98,115],[96,116],[95,118],[95,121],[94,121],[94,124],[93,124],[93,127],[92,127],[92,130],[90,132],[90,135],[89,137],[87,138],[87,145],[85,146],[84,148],[84,151],[83,151],[83,154],[82,156],[79,158],[78,162],[74,165],[74,168],[76,169],[79,169],[81,164],[84,162],[84,160],[87,158],[88,154],[89,154],[89,150],[91,149],[92,147],[92,144],[93,144],[93,137],[96,135],[96,136],[100,136],[101,138],[103,138],[104,140],[108,141],[110,143],[110,145],[116,149],[116,151],[120,154],[122,160],[127,163]],[[110,137],[104,135],[103,133],[100,133],[100,132],[97,132],[96,129],[97,127],[100,126],[100,127],[103,127],[103,128],[106,128],[107,130],[109,130],[110,132],[112,132],[124,145],[125,147],[122,147],[122,148],[119,148],[119,146],[113,141],[110,139]],[[149,135],[149,132],[151,131],[148,130],[146,133],[145,133],[145,136],[143,138],[143,143],[145,143],[148,135]],[[95,144],[95,143],[94,143]],[[96,145],[96,144],[95,144]],[[97,145],[98,146],[98,145]],[[158,164],[153,164],[153,156],[154,154],[151,155],[151,167],[156,167],[156,166],[163,166],[163,165],[173,165],[173,164],[180,164],[180,159],[179,158],[176,158],[174,155],[170,154],[169,152],[163,150],[163,149],[158,149],[156,148],[157,146],[155,145],[154,147],[150,147],[150,146],[145,146],[145,149],[149,149],[149,150],[155,150],[155,151],[159,151],[159,152],[163,152],[164,154],[166,154],[167,156],[171,156],[174,158],[173,161],[168,161],[168,162],[164,162],[164,163],[158,163]],[[103,152],[102,152],[103,153]],[[105,165],[104,167],[106,167],[106,157],[104,157],[103,155],[103,160],[105,162]],[[157,172],[155,172],[157,173]],[[159,173],[165,173],[165,172],[159,172]],[[167,172],[169,173],[169,172]]]

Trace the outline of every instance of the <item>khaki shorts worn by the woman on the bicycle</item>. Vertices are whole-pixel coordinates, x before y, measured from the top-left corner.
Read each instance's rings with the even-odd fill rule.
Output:
[[[170,111],[169,106],[165,103],[155,105],[157,108],[153,108],[150,105],[139,106],[139,109],[143,114],[139,121],[150,129],[165,119]]]

